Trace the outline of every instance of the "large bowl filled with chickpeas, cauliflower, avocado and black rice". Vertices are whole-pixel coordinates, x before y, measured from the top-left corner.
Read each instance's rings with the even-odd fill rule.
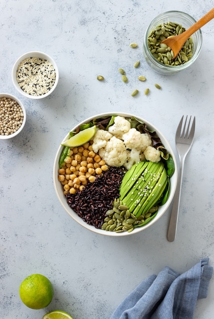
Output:
[[[126,236],[158,221],[176,188],[169,142],[145,119],[127,113],[90,117],[68,132],[53,166],[60,204],[81,226]]]

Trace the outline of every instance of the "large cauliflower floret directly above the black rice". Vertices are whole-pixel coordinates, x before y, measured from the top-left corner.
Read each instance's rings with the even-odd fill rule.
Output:
[[[105,148],[99,150],[99,155],[107,165],[119,167],[127,160],[126,146],[124,142],[113,136]]]

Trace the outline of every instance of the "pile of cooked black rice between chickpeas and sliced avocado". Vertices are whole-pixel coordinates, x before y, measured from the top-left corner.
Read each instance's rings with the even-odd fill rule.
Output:
[[[89,225],[101,228],[106,211],[112,209],[112,201],[119,197],[119,186],[125,171],[109,167],[102,175],[97,175],[93,183],[85,185],[82,191],[66,195],[69,206]]]

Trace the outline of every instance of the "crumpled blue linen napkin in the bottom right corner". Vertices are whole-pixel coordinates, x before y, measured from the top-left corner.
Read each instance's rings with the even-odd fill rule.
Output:
[[[110,319],[191,319],[197,299],[207,297],[213,268],[209,258],[179,274],[165,267],[143,280],[116,308]]]

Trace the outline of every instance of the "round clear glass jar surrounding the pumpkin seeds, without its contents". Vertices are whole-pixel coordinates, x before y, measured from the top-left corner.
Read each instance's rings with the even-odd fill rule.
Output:
[[[144,40],[143,40],[143,54],[144,54],[145,60],[153,70],[165,75],[175,74],[191,66],[195,62],[195,60],[198,58],[199,53],[201,51],[201,46],[202,46],[202,33],[201,33],[201,30],[199,29],[191,36],[191,38],[193,39],[193,51],[192,51],[192,57],[188,62],[181,65],[177,65],[177,66],[166,65],[159,62],[154,56],[152,56],[148,47],[147,39],[149,35],[151,34],[151,32],[154,31],[157,26],[159,26],[162,23],[168,23],[168,22],[178,23],[187,30],[190,28],[191,25],[193,25],[196,22],[196,20],[185,12],[167,11],[158,15],[148,25],[148,28],[146,29]]]

